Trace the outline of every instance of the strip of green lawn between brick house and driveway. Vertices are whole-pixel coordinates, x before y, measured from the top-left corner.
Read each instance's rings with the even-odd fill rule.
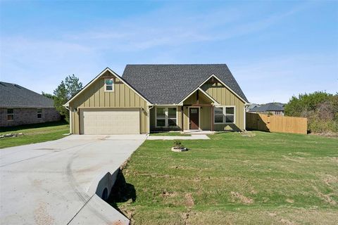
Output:
[[[23,133],[24,135],[0,139],[0,148],[61,139],[64,137],[63,134],[69,133],[69,125],[62,121],[29,124],[18,127],[3,127],[0,129],[0,135],[10,133]]]

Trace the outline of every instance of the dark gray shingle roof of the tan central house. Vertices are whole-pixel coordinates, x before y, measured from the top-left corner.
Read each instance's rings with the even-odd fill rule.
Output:
[[[211,75],[249,102],[225,64],[127,65],[122,77],[151,103],[173,104]]]

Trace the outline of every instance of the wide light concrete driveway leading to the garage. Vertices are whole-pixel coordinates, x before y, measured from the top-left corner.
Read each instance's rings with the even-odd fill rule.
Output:
[[[72,135],[0,150],[0,224],[127,224],[95,192],[145,139]]]

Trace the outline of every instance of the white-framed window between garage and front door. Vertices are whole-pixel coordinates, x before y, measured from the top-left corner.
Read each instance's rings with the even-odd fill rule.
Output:
[[[156,107],[156,127],[177,127],[176,107]]]

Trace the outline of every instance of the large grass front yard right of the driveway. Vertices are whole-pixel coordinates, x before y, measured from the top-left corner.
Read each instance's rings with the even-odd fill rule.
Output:
[[[338,139],[253,134],[145,141],[108,202],[132,224],[338,224]]]

